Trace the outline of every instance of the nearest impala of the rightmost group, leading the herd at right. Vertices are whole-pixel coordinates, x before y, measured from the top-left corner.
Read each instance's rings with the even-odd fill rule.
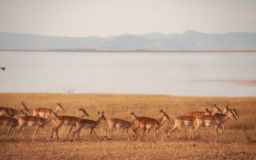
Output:
[[[232,110],[227,111],[226,114],[223,115],[218,115],[218,116],[211,116],[211,115],[205,115],[202,117],[196,117],[195,121],[196,123],[196,128],[194,131],[200,128],[204,128],[205,126],[214,126],[215,127],[215,137],[217,137],[217,132],[220,126],[223,127],[223,123],[225,123],[227,120],[231,118],[236,119],[235,114],[233,113]],[[223,129],[221,130],[221,134],[223,134]],[[202,132],[201,136],[204,138]]]

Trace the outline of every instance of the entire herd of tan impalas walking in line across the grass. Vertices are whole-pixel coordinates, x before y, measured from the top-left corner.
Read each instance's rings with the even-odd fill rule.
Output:
[[[224,123],[228,119],[237,119],[239,117],[235,108],[230,109],[229,106],[224,106],[224,110],[221,111],[218,107],[218,104],[212,105],[212,108],[212,111],[209,111],[208,109],[206,109],[206,111],[191,111],[184,116],[175,117],[174,126],[172,127],[172,129],[169,130],[167,137],[170,136],[172,130],[177,129],[177,134],[179,134],[183,126],[188,126],[189,139],[193,140],[194,132],[198,129],[201,130],[201,136],[204,138],[204,128],[206,126],[213,126],[215,129],[215,137],[217,138],[218,131],[220,131],[220,134],[224,133]],[[73,132],[71,141],[73,141],[75,135],[77,135],[79,141],[81,141],[80,133],[82,129],[90,129],[90,137],[93,133],[95,134],[97,140],[99,140],[95,129],[101,123],[101,121],[104,120],[108,123],[108,129],[105,129],[105,140],[111,140],[111,133],[113,129],[119,129],[119,135],[116,140],[119,140],[120,136],[123,134],[124,131],[126,133],[127,139],[130,140],[129,129],[131,129],[134,140],[137,140],[137,135],[139,135],[141,131],[143,131],[143,139],[146,139],[150,130],[153,130],[155,142],[156,134],[157,131],[160,132],[160,127],[167,121],[171,121],[170,117],[163,110],[160,110],[159,119],[154,119],[151,117],[137,117],[134,112],[131,112],[131,122],[119,118],[106,119],[103,111],[98,111],[98,119],[96,120],[85,119],[84,117],[89,117],[89,114],[84,110],[84,108],[79,109],[79,117],[59,116],[58,111],[64,111],[64,108],[61,106],[60,103],[56,104],[55,110],[48,108],[36,108],[32,111],[33,116],[27,115],[26,112],[28,112],[28,109],[24,102],[21,102],[21,105],[17,110],[1,106],[0,125],[3,125],[3,129],[5,126],[9,127],[7,134],[4,136],[3,139],[5,139],[9,135],[10,131],[14,129],[15,131],[12,140],[15,139],[15,136],[18,133],[20,133],[22,138],[25,140],[23,132],[26,127],[35,127],[36,129],[33,134],[32,141],[38,133],[38,129],[43,129],[46,140],[49,140],[45,132],[44,126],[46,126],[51,121],[54,124],[54,127],[51,129],[50,140],[53,140],[54,133],[57,140],[60,139],[59,129],[61,129],[61,126],[63,125],[70,127],[66,140],[68,139],[68,136],[73,128],[75,128],[76,130]],[[23,116],[19,117],[18,120],[15,119],[15,116],[20,113]]]

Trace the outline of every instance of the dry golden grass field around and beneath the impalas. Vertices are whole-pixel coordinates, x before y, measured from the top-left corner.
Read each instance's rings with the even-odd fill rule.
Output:
[[[34,128],[25,130],[26,140],[20,140],[20,134],[11,140],[3,140],[6,133],[0,134],[0,159],[255,159],[256,158],[256,97],[225,98],[225,97],[183,97],[164,95],[131,95],[131,94],[0,94],[0,106],[17,108],[20,102],[26,102],[29,115],[37,107],[55,108],[60,102],[66,111],[58,115],[78,116],[79,107],[84,107],[90,119],[97,118],[97,111],[105,111],[105,117],[119,117],[131,121],[131,111],[137,116],[160,117],[160,109],[167,112],[173,119],[188,111],[205,111],[206,107],[219,102],[230,104],[239,111],[238,120],[230,119],[224,123],[223,136],[214,139],[213,129],[205,129],[206,140],[199,132],[195,132],[194,140],[189,140],[189,129],[185,128],[180,137],[174,132],[169,139],[166,132],[173,125],[168,122],[160,129],[157,142],[154,143],[153,132],[148,140],[126,140],[125,134],[116,142],[104,140],[106,122],[102,122],[96,133],[101,140],[88,142],[89,130],[83,130],[82,142],[79,140],[65,141],[69,127],[59,131],[61,140],[47,142],[43,131],[32,143]],[[18,116],[19,117],[19,116]],[[53,123],[45,127],[48,136]],[[1,127],[2,128],[2,127]],[[1,129],[0,128],[0,129]],[[117,132],[113,132],[116,136]],[[131,132],[130,132],[131,135]],[[132,138],[132,135],[130,136]]]

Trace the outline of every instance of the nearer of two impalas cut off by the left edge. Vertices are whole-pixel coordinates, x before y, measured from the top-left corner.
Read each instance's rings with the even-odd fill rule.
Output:
[[[26,115],[26,113],[25,113],[24,111],[21,111],[21,113],[23,113],[23,114]],[[18,124],[19,124],[18,120],[15,119],[14,117],[0,116],[0,125],[9,126],[9,129],[8,129],[8,131],[7,131],[7,134],[4,136],[3,139],[5,139],[5,138],[9,135],[10,131],[11,131],[12,129],[15,129],[15,127],[16,127]]]

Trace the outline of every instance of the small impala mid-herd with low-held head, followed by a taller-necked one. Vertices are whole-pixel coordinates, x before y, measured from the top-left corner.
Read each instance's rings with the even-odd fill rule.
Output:
[[[108,140],[111,140],[110,135],[111,135],[113,129],[120,129],[119,136],[116,140],[119,140],[119,138],[123,134],[124,130],[126,131],[126,136],[127,136],[128,140],[130,140],[128,130],[131,128],[134,121],[128,122],[128,121],[125,121],[125,120],[122,120],[119,118],[110,118],[107,120],[107,123],[108,123],[108,129],[105,130],[105,140],[107,140],[107,133],[108,133]],[[109,130],[109,132],[108,132],[108,130]]]

